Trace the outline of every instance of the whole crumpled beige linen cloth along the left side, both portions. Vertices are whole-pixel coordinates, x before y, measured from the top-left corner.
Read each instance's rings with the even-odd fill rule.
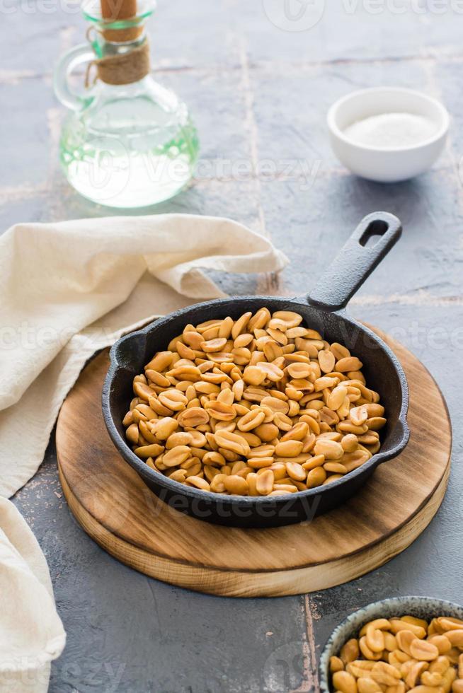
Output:
[[[37,471],[84,363],[149,318],[222,296],[201,267],[272,272],[285,262],[265,238],[211,217],[27,223],[0,237],[2,693],[45,693],[50,661],[64,648],[45,557],[1,496]]]

